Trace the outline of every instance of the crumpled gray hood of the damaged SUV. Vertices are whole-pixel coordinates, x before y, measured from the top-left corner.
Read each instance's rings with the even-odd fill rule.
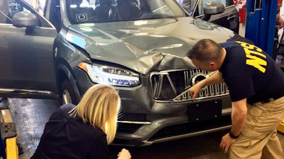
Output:
[[[66,35],[92,59],[143,74],[191,68],[186,54],[198,40],[226,42],[238,37],[219,25],[189,17],[70,25]]]

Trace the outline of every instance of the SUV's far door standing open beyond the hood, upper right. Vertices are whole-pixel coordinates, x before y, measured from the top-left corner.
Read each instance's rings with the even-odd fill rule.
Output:
[[[196,18],[204,18],[203,8],[209,1],[217,1],[224,5],[225,11],[216,15],[212,15],[208,21],[222,25],[225,28],[239,33],[239,11],[236,9],[233,0],[197,0],[193,13]]]

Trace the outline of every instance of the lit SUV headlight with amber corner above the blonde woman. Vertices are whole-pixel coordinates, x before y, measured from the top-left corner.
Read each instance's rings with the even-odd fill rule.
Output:
[[[133,87],[140,84],[137,73],[99,64],[81,62],[78,66],[86,71],[94,83],[107,83],[112,86]]]

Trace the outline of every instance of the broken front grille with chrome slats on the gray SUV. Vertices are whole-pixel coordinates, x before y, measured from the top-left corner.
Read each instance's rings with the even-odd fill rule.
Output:
[[[151,73],[151,95],[155,100],[182,102],[192,100],[189,88],[195,83],[211,76],[214,72],[201,69],[183,69],[170,71],[155,71]],[[229,90],[224,83],[205,86],[200,91],[198,99],[228,95]]]

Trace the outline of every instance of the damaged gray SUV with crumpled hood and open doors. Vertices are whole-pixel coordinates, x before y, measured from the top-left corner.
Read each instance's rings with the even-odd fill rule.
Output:
[[[207,20],[233,9],[203,8]],[[108,83],[122,105],[113,144],[124,146],[230,127],[224,83],[190,98],[188,89],[212,72],[186,54],[203,38],[245,39],[190,16],[175,0],[4,0],[0,9],[0,97],[77,104],[90,86]]]

